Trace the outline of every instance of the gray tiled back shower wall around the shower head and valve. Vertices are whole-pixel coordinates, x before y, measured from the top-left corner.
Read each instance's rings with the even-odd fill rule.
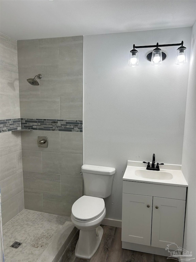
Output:
[[[82,132],[51,131],[50,123],[82,120],[83,37],[21,40],[17,46],[21,118],[32,119],[27,122],[37,129],[21,135],[25,208],[69,216],[82,195]],[[30,85],[26,79],[38,73],[40,85]],[[35,119],[51,121],[39,128]],[[47,148],[38,147],[38,136],[48,137]]]

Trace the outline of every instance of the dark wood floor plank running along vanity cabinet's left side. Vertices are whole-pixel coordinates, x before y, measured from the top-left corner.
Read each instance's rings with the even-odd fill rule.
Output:
[[[122,229],[116,227],[107,262],[121,262],[123,259],[121,232]]]

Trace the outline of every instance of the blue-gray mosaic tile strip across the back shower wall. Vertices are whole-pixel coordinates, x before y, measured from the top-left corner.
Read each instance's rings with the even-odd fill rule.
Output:
[[[31,130],[82,132],[82,120],[21,118],[21,128]]]

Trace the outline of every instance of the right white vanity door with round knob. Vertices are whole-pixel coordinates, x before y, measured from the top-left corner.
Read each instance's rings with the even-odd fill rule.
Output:
[[[183,247],[185,200],[153,197],[151,246],[166,248],[175,243]]]

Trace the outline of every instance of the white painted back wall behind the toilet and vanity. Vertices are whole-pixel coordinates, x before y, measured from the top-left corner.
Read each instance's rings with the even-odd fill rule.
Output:
[[[175,65],[177,47],[153,67],[139,49],[140,65],[128,66],[135,45],[180,43],[190,50],[192,28],[84,37],[84,164],[116,168],[106,217],[121,219],[127,160],[181,164],[189,64]]]

